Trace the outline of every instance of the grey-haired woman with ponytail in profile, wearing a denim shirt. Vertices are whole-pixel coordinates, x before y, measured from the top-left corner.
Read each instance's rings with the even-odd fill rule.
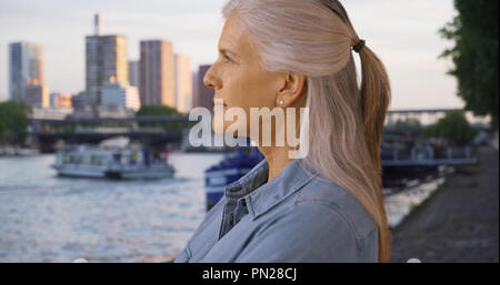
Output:
[[[289,141],[263,145],[243,133],[266,160],[226,187],[174,262],[388,262],[379,157],[390,102],[383,64],[337,0],[230,0],[222,13],[219,59],[204,84],[223,108],[247,114],[307,108],[310,140],[300,144],[308,152],[291,159]]]

